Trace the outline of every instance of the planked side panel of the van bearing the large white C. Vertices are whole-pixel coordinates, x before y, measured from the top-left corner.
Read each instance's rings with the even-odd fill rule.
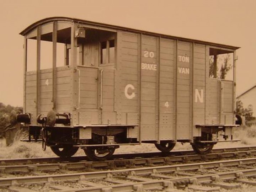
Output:
[[[138,124],[138,59],[139,40],[137,33],[121,32],[121,68],[119,69],[121,116],[123,124]],[[125,87],[132,85],[134,89],[127,89],[127,94],[134,93],[134,97],[128,99],[125,95]]]

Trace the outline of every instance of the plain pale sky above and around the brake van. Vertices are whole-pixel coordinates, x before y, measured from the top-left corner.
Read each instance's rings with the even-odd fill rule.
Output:
[[[19,33],[55,16],[241,47],[236,95],[256,84],[255,0],[0,0],[0,102],[23,105],[23,37]]]

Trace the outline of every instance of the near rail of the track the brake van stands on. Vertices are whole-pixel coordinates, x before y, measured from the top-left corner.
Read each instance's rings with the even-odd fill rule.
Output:
[[[237,158],[243,156],[256,155],[256,150],[253,151],[233,151],[225,153],[213,153],[208,155],[182,155],[182,156],[170,156],[170,157],[153,157],[144,159],[132,159],[132,160],[109,160],[103,162],[61,162],[61,163],[48,163],[48,164],[29,164],[29,165],[2,165],[0,166],[1,173],[10,172],[29,172],[29,171],[48,171],[48,170],[78,170],[86,168],[97,168],[97,167],[124,167],[124,166],[136,166],[136,165],[157,165],[157,164],[171,164],[172,162],[188,162],[195,160],[210,160],[210,159],[221,159],[221,158]]]

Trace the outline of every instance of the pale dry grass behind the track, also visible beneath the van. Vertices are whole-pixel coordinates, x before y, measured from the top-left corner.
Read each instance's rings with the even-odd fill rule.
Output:
[[[214,146],[214,148],[238,147],[246,145],[256,145],[256,126],[241,126],[234,129],[234,139],[240,139],[240,142],[222,142]],[[191,150],[189,143],[182,145],[177,143],[173,150]],[[140,152],[156,152],[154,144],[141,145],[124,145],[116,149],[115,153],[140,153]],[[84,151],[79,149],[75,155],[84,155]],[[11,158],[36,158],[36,157],[56,157],[52,150],[47,147],[46,151],[42,150],[40,142],[21,142],[18,138],[10,145],[5,145],[5,139],[0,139],[0,159]]]

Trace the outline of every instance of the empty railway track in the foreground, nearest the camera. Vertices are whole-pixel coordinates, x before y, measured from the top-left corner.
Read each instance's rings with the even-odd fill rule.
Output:
[[[255,164],[256,158],[247,158],[62,175],[1,178],[0,190],[176,191],[187,187],[201,191],[220,191],[220,188],[232,189],[241,188],[244,184],[256,185]]]

